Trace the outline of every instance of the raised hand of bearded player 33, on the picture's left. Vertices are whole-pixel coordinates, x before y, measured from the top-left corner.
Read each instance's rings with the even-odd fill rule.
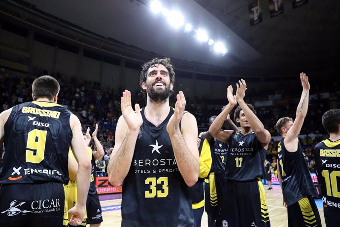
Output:
[[[128,124],[131,131],[139,130],[139,127],[143,123],[143,118],[140,114],[139,104],[135,105],[136,112],[131,106],[131,92],[128,90],[123,91],[123,96],[121,97],[120,108],[122,110],[125,122]]]

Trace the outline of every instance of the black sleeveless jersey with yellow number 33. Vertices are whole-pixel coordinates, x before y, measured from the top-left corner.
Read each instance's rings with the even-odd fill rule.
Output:
[[[141,110],[143,124],[128,175],[123,182],[122,226],[192,227],[188,187],[181,176],[167,132],[174,110],[155,126]]]

